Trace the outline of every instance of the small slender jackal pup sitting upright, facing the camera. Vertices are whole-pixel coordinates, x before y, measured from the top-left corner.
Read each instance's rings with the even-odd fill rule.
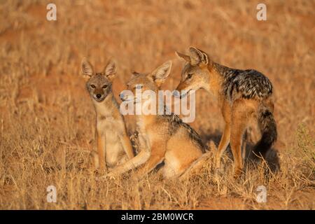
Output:
[[[106,167],[115,167],[134,157],[124,118],[112,92],[116,64],[109,61],[103,72],[95,73],[90,62],[83,58],[81,71],[83,76],[88,78],[86,88],[97,113],[98,155],[92,152],[95,168],[104,170]]]

